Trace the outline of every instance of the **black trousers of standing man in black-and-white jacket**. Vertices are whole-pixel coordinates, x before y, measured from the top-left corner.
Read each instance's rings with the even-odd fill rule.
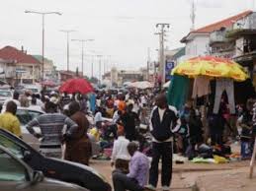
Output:
[[[162,186],[170,186],[172,179],[172,142],[155,143],[152,147],[152,162],[149,172],[149,184],[156,187],[158,181],[158,163],[162,159]]]

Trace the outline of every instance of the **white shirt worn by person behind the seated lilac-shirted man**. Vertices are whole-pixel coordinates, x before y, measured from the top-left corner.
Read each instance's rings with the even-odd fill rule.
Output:
[[[112,152],[112,161],[116,159],[130,159],[128,154],[128,139],[124,136],[119,136],[118,140],[114,142],[113,152]]]

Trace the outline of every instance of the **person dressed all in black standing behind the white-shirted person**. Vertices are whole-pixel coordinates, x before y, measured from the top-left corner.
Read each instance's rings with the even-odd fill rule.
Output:
[[[129,141],[136,141],[136,125],[139,124],[138,115],[132,111],[133,104],[128,102],[126,112],[121,115],[121,120],[125,126],[126,138]]]

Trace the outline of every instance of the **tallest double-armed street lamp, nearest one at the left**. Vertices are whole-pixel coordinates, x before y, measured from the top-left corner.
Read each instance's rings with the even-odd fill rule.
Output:
[[[43,22],[42,22],[42,64],[43,64],[43,69],[42,69],[42,76],[44,76],[44,16],[45,15],[59,15],[61,16],[62,14],[59,13],[59,12],[37,12],[37,11],[28,11],[26,10],[25,13],[31,13],[31,14],[38,14],[38,15],[42,15],[42,19],[43,19]],[[42,80],[43,80],[43,77],[42,77]]]

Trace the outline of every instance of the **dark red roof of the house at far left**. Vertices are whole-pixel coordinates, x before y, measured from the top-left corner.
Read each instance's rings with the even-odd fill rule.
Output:
[[[15,60],[16,63],[41,64],[39,60],[34,58],[13,46],[5,46],[0,49],[0,58],[4,60]]]

